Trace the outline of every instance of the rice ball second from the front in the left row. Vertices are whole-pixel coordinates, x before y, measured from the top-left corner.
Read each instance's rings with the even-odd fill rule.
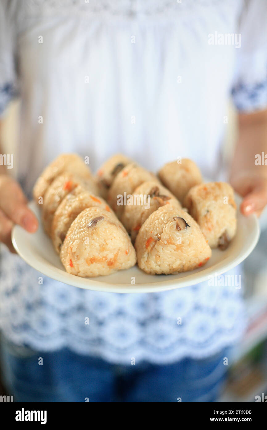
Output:
[[[64,197],[54,214],[51,226],[51,239],[57,253],[60,252],[60,247],[64,242],[72,221],[74,221],[84,209],[92,206],[105,209],[108,212],[113,212],[104,199],[91,194],[81,185],[78,185],[72,192]]]

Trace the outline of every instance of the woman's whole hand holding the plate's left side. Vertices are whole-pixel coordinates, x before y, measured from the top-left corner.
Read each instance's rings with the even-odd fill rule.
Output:
[[[29,233],[38,228],[38,220],[27,207],[27,199],[18,184],[9,175],[0,175],[0,242],[16,252],[11,241],[13,224],[19,224]]]

